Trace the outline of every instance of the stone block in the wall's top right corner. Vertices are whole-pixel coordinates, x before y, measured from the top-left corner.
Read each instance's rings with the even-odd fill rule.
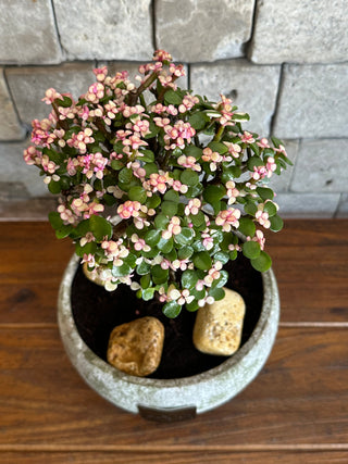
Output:
[[[256,63],[347,61],[347,1],[258,1],[249,55]]]

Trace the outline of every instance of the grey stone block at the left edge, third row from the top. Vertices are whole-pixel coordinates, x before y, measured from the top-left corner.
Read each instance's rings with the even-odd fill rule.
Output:
[[[39,170],[36,166],[27,166],[23,160],[23,150],[27,148],[28,143],[28,140],[20,143],[0,143],[0,165],[3,166],[0,170],[0,184],[11,180],[12,193],[14,184],[18,184],[23,188],[23,198],[26,198],[27,195],[42,197],[48,193],[44,177],[39,176]]]

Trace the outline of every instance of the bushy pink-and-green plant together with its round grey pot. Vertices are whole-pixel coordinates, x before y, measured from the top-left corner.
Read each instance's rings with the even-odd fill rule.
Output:
[[[178,88],[184,66],[163,50],[139,66],[138,86],[126,72],[109,76],[104,66],[95,74],[77,101],[47,90],[44,101],[52,111],[33,122],[24,152],[59,196],[49,214],[57,237],[75,243],[60,289],[60,330],[72,362],[100,394],[132,412],[157,409],[167,418],[170,409],[182,418],[192,407],[203,412],[235,396],[271,351],[278,296],[262,228],[278,231],[283,221],[266,181],[291,163],[278,139],[269,142],[243,129],[249,116],[226,97],[211,102]],[[173,324],[223,300],[224,288],[243,274],[228,268],[240,256],[250,261],[251,280],[261,283],[260,312],[241,348],[207,372],[182,379],[125,374],[96,354],[76,328],[72,299],[80,299],[74,291],[80,263],[92,280],[82,274],[84,285],[101,292],[99,299],[123,301],[120,291],[130,289],[142,304],[141,311],[136,303],[127,309],[133,317],[156,306]],[[96,326],[102,309],[92,303],[88,311]],[[247,304],[246,318],[248,312]]]

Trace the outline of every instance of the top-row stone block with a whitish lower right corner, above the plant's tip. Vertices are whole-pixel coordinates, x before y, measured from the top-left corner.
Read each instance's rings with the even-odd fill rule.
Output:
[[[244,54],[254,0],[158,0],[157,47],[184,62],[214,61]]]

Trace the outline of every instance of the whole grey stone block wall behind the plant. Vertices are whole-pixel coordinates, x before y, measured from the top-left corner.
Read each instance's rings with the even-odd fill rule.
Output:
[[[285,139],[273,180],[284,216],[348,216],[346,0],[4,0],[0,16],[0,217],[42,218],[52,199],[22,160],[54,87],[75,97],[91,70],[147,62],[157,48],[188,85],[232,97],[249,127]]]

